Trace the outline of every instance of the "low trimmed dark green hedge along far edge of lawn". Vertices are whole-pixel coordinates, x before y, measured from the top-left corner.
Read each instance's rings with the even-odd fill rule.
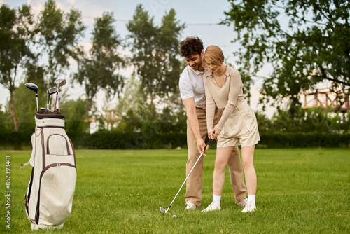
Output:
[[[174,149],[186,148],[186,133],[95,132],[67,133],[76,149]],[[31,134],[0,133],[1,149],[30,149]],[[350,134],[271,133],[260,135],[257,148],[350,148]],[[215,142],[211,144],[215,148]]]

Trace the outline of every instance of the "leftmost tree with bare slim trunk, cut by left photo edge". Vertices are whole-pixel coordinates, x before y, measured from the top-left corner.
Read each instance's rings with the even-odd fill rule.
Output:
[[[29,48],[32,20],[31,9],[23,5],[18,11],[2,5],[0,8],[0,83],[10,92],[10,115],[15,132],[18,123],[14,92],[27,61],[33,57]]]

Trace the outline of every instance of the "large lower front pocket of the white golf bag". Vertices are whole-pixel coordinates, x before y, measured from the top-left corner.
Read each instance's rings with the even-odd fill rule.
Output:
[[[71,163],[52,163],[40,175],[35,223],[40,214],[53,225],[62,223],[71,214],[76,184],[76,167]]]

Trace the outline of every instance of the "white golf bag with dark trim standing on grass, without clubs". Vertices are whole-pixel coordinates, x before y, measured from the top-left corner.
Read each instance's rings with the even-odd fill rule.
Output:
[[[76,155],[64,130],[64,115],[37,111],[31,135],[29,179],[25,207],[31,229],[62,228],[71,214],[76,189]]]

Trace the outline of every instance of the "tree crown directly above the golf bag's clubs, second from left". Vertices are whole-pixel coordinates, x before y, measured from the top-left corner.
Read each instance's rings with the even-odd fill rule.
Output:
[[[78,60],[82,53],[79,39],[83,36],[85,26],[78,10],[71,9],[69,13],[57,8],[55,1],[48,0],[39,16],[36,26],[36,49],[38,57],[44,61],[45,74],[48,82],[62,78],[69,68],[69,59]]]

